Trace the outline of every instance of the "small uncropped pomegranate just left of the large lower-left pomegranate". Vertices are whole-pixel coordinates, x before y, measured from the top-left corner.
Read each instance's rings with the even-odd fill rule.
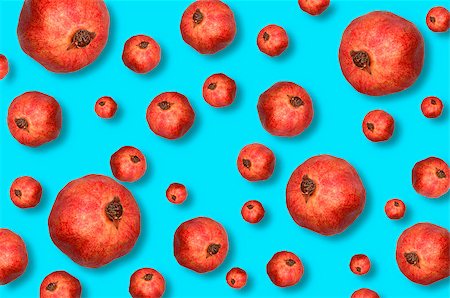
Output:
[[[41,201],[42,186],[32,177],[19,177],[11,184],[9,196],[17,207],[33,208]]]

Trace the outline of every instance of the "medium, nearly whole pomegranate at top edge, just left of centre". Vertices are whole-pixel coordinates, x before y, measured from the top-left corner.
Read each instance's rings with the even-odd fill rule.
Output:
[[[199,0],[184,11],[180,31],[183,40],[200,54],[215,54],[234,40],[236,21],[225,3]]]

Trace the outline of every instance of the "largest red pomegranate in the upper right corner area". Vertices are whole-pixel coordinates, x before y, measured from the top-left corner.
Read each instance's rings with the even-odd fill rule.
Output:
[[[345,78],[358,92],[371,96],[392,94],[413,85],[423,61],[424,41],[419,30],[386,11],[353,20],[339,47]]]

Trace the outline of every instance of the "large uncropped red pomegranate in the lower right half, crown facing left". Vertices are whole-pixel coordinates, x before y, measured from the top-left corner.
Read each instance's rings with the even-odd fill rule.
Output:
[[[318,155],[292,173],[286,203],[298,225],[330,236],[342,233],[361,214],[366,190],[347,161]]]

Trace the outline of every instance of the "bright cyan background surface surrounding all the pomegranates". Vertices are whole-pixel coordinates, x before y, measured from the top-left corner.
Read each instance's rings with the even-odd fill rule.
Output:
[[[112,22],[107,48],[93,65],[66,75],[46,71],[21,51],[16,26],[22,2],[0,2],[0,52],[11,63],[11,73],[0,81],[0,226],[23,237],[30,259],[20,279],[0,287],[1,297],[36,297],[42,279],[54,270],[67,270],[79,278],[85,297],[126,297],[129,277],[141,267],[156,268],[164,275],[169,297],[349,297],[362,287],[381,297],[450,295],[448,279],[428,287],[416,285],[400,273],[394,257],[405,228],[417,222],[450,226],[449,195],[426,199],[411,186],[415,162],[429,156],[450,161],[449,34],[433,33],[425,24],[427,11],[439,2],[333,1],[319,17],[302,12],[296,1],[227,2],[237,20],[236,39],[223,52],[202,56],[183,42],[179,32],[188,2],[107,1]],[[425,66],[417,83],[385,98],[357,93],[342,76],[337,59],[345,27],[373,10],[389,10],[411,20],[426,42]],[[290,38],[287,52],[273,59],[256,47],[257,33],[270,23],[283,26]],[[141,33],[162,47],[161,64],[148,75],[129,71],[121,61],[124,42]],[[226,109],[210,107],[201,95],[204,80],[217,72],[228,74],[238,85],[236,102]],[[259,95],[282,80],[302,85],[314,102],[312,125],[292,139],[268,134],[256,111]],[[59,139],[35,149],[21,146],[6,126],[10,102],[29,90],[54,96],[64,118]],[[157,137],[145,120],[150,100],[164,91],[185,94],[197,114],[192,130],[178,141]],[[94,103],[103,95],[119,104],[113,120],[94,113]],[[421,114],[420,103],[429,95],[441,97],[447,105],[439,119]],[[384,109],[396,120],[394,137],[387,143],[371,143],[361,131],[364,115],[373,109]],[[277,157],[275,173],[266,182],[250,183],[236,169],[239,150],[253,142],[267,145]],[[101,269],[80,267],[51,242],[48,214],[69,181],[90,173],[111,175],[110,155],[124,145],[141,149],[149,163],[142,181],[126,184],[141,208],[141,236],[129,255]],[[292,171],[322,153],[347,159],[367,189],[362,215],[334,237],[298,227],[285,205]],[[9,199],[11,182],[22,175],[35,177],[44,188],[42,202],[33,210],[21,210]],[[188,187],[184,205],[172,205],[165,198],[174,181]],[[400,221],[391,221],[384,213],[385,202],[393,197],[407,205]],[[260,224],[250,225],[241,218],[241,206],[250,199],[265,206]],[[204,275],[179,266],[172,252],[177,226],[197,216],[221,222],[231,245],[224,264]],[[295,287],[277,288],[266,275],[267,261],[280,250],[295,252],[304,263],[305,275]],[[356,253],[371,258],[373,268],[367,276],[349,270]],[[225,282],[226,272],[234,266],[249,274],[247,287],[240,291]]]

